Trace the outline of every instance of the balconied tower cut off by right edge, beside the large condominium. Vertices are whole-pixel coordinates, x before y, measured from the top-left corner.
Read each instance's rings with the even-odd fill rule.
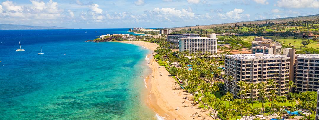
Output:
[[[316,91],[319,88],[319,55],[296,55],[295,92]]]

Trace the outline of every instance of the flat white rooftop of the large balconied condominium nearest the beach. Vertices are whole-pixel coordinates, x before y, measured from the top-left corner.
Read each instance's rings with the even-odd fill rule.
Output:
[[[237,59],[267,59],[267,58],[290,58],[282,55],[274,55],[274,54],[263,54],[263,53],[257,53],[257,54],[244,54],[244,55],[225,55],[226,57],[233,57]]]

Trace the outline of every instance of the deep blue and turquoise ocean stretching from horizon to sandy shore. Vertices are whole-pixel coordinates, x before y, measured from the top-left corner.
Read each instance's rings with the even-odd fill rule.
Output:
[[[150,51],[84,42],[127,31],[0,30],[0,119],[156,119],[140,77],[150,73],[145,60]],[[15,51],[19,41],[25,51]],[[44,55],[37,55],[41,46]]]

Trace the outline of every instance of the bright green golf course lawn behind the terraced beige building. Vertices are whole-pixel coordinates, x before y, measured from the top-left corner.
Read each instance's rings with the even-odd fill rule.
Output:
[[[300,48],[300,46],[303,46],[301,44],[303,39],[301,39],[301,38],[295,39],[293,37],[274,37],[274,36],[263,36],[263,37],[272,38],[273,40],[275,40],[279,43],[282,43],[286,46],[289,46],[288,43],[291,43],[291,45],[295,46],[296,48]],[[286,42],[284,42],[284,41],[286,41]],[[296,42],[294,42],[294,41],[296,41]],[[319,47],[318,45],[319,44],[317,42],[310,40],[310,44],[306,45],[306,47],[318,49],[318,47]]]

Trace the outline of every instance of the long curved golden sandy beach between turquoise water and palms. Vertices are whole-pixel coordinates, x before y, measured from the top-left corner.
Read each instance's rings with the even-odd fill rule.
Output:
[[[114,41],[121,43],[132,43],[143,46],[152,51],[156,50],[158,45],[156,43],[149,43],[143,41]],[[192,95],[185,92],[178,83],[169,76],[170,74],[163,66],[159,66],[154,59],[152,53],[148,55],[150,59],[149,67],[152,69],[151,75],[146,77],[146,84],[149,92],[149,98],[146,98],[147,105],[152,108],[159,116],[166,120],[202,120],[213,119],[209,117],[208,111],[193,106],[190,101]],[[162,74],[162,76],[160,76]],[[183,99],[188,97],[189,100]],[[175,110],[179,108],[180,110]],[[195,116],[195,117],[192,117]]]

